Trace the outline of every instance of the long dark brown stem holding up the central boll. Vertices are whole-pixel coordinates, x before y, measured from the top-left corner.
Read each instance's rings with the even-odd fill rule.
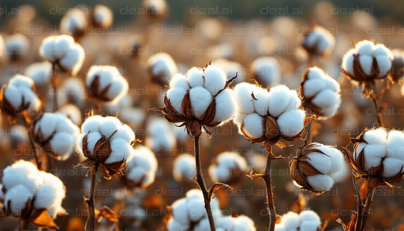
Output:
[[[195,147],[195,163],[196,163],[196,174],[195,181],[198,183],[199,187],[202,190],[203,198],[205,201],[205,209],[208,214],[210,231],[216,231],[215,221],[213,220],[212,209],[210,208],[210,197],[208,196],[208,190],[206,189],[205,180],[202,176],[201,170],[201,160],[199,153],[199,136],[194,138],[194,147]]]

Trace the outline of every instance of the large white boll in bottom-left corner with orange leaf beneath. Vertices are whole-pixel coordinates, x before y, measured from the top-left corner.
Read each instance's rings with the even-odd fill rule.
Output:
[[[64,214],[66,196],[63,182],[53,174],[39,171],[33,163],[19,160],[3,170],[2,195],[7,215],[19,219],[19,226],[32,223],[44,229],[59,229],[53,219]]]

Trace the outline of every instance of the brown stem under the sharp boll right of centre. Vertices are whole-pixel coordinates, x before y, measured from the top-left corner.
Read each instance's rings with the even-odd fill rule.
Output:
[[[269,212],[269,231],[275,230],[275,222],[276,222],[276,212],[275,212],[275,204],[274,204],[274,194],[272,193],[272,184],[271,184],[271,160],[272,160],[272,146],[269,146],[267,149],[267,165],[265,167],[264,174],[262,179],[265,182],[265,186],[267,188],[267,209]]]

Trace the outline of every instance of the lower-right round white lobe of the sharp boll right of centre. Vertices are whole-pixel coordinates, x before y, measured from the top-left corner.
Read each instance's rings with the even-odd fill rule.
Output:
[[[289,110],[280,115],[276,123],[278,124],[279,131],[284,136],[296,136],[303,130],[303,119],[305,118],[305,111],[303,110]]]

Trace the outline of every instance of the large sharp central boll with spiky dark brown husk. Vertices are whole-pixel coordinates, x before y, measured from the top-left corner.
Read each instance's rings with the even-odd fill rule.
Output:
[[[164,107],[160,110],[170,123],[182,123],[189,137],[202,134],[202,127],[209,138],[215,127],[234,117],[237,103],[234,92],[228,88],[231,81],[220,68],[207,63],[204,68],[191,68],[185,75],[175,74],[164,95]]]

